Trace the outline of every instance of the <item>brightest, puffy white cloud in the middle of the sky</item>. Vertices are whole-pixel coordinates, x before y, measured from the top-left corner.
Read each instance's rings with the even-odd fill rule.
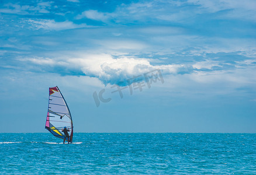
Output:
[[[96,77],[103,83],[115,84],[120,81],[142,75],[154,69],[161,69],[162,74],[179,74],[189,72],[186,65],[151,65],[144,58],[113,58],[108,54],[85,55],[81,58],[50,59],[28,58],[22,61],[30,61],[37,65],[62,66],[69,69],[77,69],[85,75]]]

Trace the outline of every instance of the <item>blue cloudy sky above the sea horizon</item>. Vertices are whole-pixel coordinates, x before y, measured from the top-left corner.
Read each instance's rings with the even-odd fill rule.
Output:
[[[0,1],[0,132],[256,132],[256,1]]]

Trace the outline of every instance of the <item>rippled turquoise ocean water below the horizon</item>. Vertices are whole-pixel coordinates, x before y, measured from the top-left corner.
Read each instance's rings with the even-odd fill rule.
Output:
[[[256,134],[0,134],[0,174],[256,174]]]

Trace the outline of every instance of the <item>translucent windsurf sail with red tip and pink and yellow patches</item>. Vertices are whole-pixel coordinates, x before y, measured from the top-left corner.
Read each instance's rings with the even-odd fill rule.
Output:
[[[64,132],[61,130],[67,127],[70,129],[69,140],[72,142],[73,138],[73,123],[72,117],[70,114],[70,109],[58,89],[58,86],[54,88],[49,88],[49,104],[48,104],[48,113],[46,118],[46,129],[51,132],[54,136],[64,139]],[[68,140],[66,138],[66,140]]]

